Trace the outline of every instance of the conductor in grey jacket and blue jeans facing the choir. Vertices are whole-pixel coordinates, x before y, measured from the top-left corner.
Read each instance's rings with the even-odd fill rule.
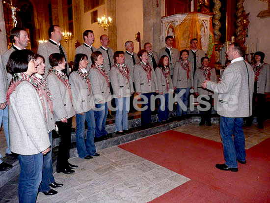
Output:
[[[224,70],[221,82],[206,80],[201,86],[219,93],[217,114],[220,115],[220,136],[225,163],[216,164],[216,168],[238,172],[237,161],[246,163],[243,117],[252,115],[254,73],[251,66],[243,60],[243,49],[239,44],[232,44],[226,54],[232,62]]]

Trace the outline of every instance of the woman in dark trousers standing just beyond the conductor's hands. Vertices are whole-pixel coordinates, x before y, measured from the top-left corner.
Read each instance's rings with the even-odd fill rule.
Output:
[[[194,93],[195,96],[198,97],[199,95],[203,95],[201,98],[204,103],[208,103],[208,106],[210,106],[210,109],[207,109],[207,105],[201,104],[200,101],[200,107],[203,108],[203,111],[200,111],[201,115],[201,122],[199,125],[204,125],[205,122],[208,126],[211,126],[211,117],[212,117],[212,95],[213,91],[202,88],[201,84],[205,81],[213,81],[216,82],[216,69],[213,67],[208,66],[209,65],[209,58],[203,57],[201,58],[202,67],[199,67],[195,71],[194,75]],[[209,96],[209,99],[206,98],[206,96]]]

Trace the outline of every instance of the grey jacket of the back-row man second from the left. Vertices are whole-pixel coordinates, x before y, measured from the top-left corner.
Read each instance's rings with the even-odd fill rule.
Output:
[[[62,46],[62,49],[63,49],[63,52],[65,54],[65,58],[66,58],[66,62],[67,62],[67,73],[69,74],[67,53],[66,53],[66,50],[65,50],[65,48],[63,46]],[[50,57],[51,54],[54,54],[54,53],[60,54],[59,48],[58,48],[57,45],[47,41],[45,43],[41,43],[41,44],[38,45],[37,53],[45,58],[45,63],[44,63],[45,64],[45,74],[44,74],[44,78],[46,78],[46,76],[49,73],[50,67],[51,67],[50,62],[49,62],[49,57]]]

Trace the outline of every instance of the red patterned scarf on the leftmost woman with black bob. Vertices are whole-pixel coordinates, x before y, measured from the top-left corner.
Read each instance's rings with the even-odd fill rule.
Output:
[[[29,82],[34,88],[35,90],[37,91],[38,93],[38,96],[40,98],[40,101],[42,103],[42,107],[43,107],[43,111],[44,111],[44,116],[45,116],[45,119],[46,119],[46,108],[45,108],[45,104],[44,104],[44,100],[43,100],[43,96],[42,96],[42,93],[41,93],[41,90],[40,88],[36,85],[36,83],[33,81],[33,79],[27,75],[26,73],[14,73],[12,75],[12,79],[10,81],[10,84],[8,86],[8,89],[7,89],[7,92],[6,92],[6,100],[7,100],[7,104],[9,104],[9,98],[10,98],[10,95],[13,93],[13,91],[16,90],[16,88],[18,87],[18,85],[23,82],[23,81],[27,81]]]

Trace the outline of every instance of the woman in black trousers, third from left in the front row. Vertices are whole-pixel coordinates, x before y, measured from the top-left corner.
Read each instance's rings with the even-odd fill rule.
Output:
[[[71,174],[78,166],[68,162],[71,142],[72,116],[75,110],[72,103],[72,93],[67,76],[62,72],[65,69],[65,58],[62,54],[54,53],[49,57],[51,68],[46,82],[52,94],[54,119],[60,135],[57,154],[56,172]]]

